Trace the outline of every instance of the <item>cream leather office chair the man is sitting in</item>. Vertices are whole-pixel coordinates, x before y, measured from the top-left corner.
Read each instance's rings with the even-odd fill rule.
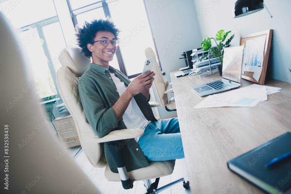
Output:
[[[81,147],[93,166],[105,167],[105,177],[108,181],[121,181],[123,188],[129,189],[133,187],[133,180],[143,180],[147,193],[159,193],[180,181],[183,181],[184,188],[189,188],[189,183],[188,181],[185,182],[184,178],[157,188],[159,177],[170,175],[173,172],[175,160],[149,162],[148,167],[127,172],[123,156],[117,156],[121,152],[117,153],[114,147],[111,155],[119,173],[111,172],[103,152],[104,143],[114,146],[114,143],[118,144],[119,140],[141,136],[143,130],[123,129],[112,131],[103,138],[96,136],[86,119],[78,92],[79,76],[89,68],[90,60],[81,54],[79,47],[67,47],[61,51],[59,61],[63,67],[60,67],[57,71],[57,85],[63,102],[76,124]],[[151,183],[150,179],[156,179],[156,181]]]

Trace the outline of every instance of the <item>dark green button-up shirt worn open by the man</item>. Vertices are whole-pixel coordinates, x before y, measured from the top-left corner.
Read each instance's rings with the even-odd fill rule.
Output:
[[[112,108],[119,98],[119,93],[109,70],[129,85],[130,80],[122,72],[111,66],[108,69],[94,63],[90,63],[90,68],[80,77],[78,83],[85,115],[91,128],[99,137],[104,137],[114,130],[127,129],[122,118],[120,121],[117,120]],[[134,99],[147,120],[157,121],[142,93],[135,95]],[[127,171],[148,166],[148,162],[134,138],[121,141],[118,148],[123,150]],[[118,173],[107,146],[104,147],[104,152],[110,170]]]

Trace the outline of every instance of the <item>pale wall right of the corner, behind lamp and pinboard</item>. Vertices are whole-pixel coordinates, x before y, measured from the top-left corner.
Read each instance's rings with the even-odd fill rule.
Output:
[[[196,18],[202,37],[214,37],[217,31],[235,32],[231,46],[239,46],[241,35],[273,29],[273,47],[271,47],[267,66],[267,77],[291,83],[290,31],[291,1],[265,0],[272,14],[264,8],[256,13],[239,18],[232,17],[232,8],[236,0],[193,0]]]

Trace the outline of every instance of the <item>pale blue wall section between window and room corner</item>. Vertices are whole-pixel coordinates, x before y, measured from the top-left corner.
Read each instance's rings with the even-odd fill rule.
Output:
[[[171,82],[170,72],[185,67],[184,51],[200,47],[201,35],[192,0],[145,0],[148,16],[159,53],[164,77]],[[171,86],[168,87],[168,89]],[[156,100],[158,98],[156,97]],[[162,117],[177,114],[158,107]]]

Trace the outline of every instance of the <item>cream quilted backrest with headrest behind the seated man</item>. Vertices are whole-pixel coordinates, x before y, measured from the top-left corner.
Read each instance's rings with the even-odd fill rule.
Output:
[[[63,67],[58,69],[56,75],[58,89],[74,119],[81,147],[92,165],[105,167],[107,163],[102,154],[104,144],[91,141],[95,133],[87,121],[78,90],[79,77],[89,69],[91,60],[81,54],[79,47],[67,47],[61,51],[59,61]]]

